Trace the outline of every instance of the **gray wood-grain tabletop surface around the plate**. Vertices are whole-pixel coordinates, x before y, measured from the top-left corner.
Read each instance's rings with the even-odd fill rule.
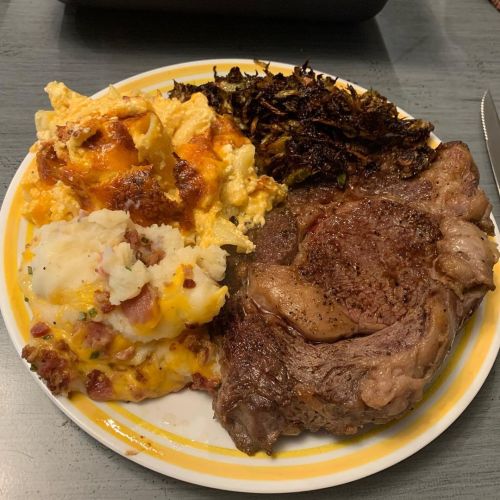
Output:
[[[110,15],[55,0],[0,0],[2,197],[34,141],[45,83],[82,93],[158,66],[216,57],[302,63],[372,86],[443,140],[465,141],[500,216],[479,120],[489,87],[500,105],[500,13],[487,0],[389,0],[358,26],[312,21]],[[87,436],[43,395],[0,333],[1,498],[233,498],[163,477]],[[498,498],[500,373],[463,415],[413,457],[356,483],[296,498]],[[292,495],[289,495],[290,497]],[[252,498],[238,494],[238,498]],[[285,495],[284,495],[285,497]]]

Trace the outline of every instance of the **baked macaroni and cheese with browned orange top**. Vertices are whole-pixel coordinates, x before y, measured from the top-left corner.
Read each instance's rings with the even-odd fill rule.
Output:
[[[181,103],[113,88],[89,99],[58,82],[46,90],[54,109],[36,115],[37,171],[25,180],[35,224],[67,220],[75,205],[127,210],[134,222],[178,226],[202,246],[250,252],[245,233],[286,196],[257,175],[254,146],[202,94]],[[47,211],[57,199],[62,207]]]

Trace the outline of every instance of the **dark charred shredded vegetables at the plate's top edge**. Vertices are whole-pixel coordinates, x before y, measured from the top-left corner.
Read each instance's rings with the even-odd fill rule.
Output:
[[[172,97],[184,101],[205,94],[220,114],[231,114],[256,146],[257,167],[289,185],[311,176],[346,185],[350,175],[384,168],[408,178],[434,158],[427,145],[433,125],[401,119],[396,106],[374,90],[359,94],[352,86],[316,74],[307,64],[293,74],[263,76],[215,72],[204,85],[175,83]]]

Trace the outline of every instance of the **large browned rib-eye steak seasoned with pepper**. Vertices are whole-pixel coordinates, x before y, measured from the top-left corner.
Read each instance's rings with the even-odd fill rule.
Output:
[[[494,288],[490,204],[462,143],[419,176],[383,169],[291,190],[229,259],[215,415],[236,446],[354,434],[422,398],[455,334]]]

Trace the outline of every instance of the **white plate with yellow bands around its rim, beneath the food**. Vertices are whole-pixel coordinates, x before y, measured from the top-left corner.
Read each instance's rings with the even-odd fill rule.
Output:
[[[212,68],[220,73],[238,65],[258,69],[251,60],[214,59],[159,68],[116,86],[167,91],[175,78],[207,81]],[[271,70],[291,66],[272,63]],[[359,88],[359,87],[358,87]],[[402,113],[404,113],[402,111]],[[434,137],[437,143],[438,139]],[[17,285],[20,251],[27,238],[21,217],[19,184],[32,164],[29,154],[14,176],[0,213],[3,273],[0,301],[10,337],[20,353],[29,336],[29,316]],[[496,268],[498,277],[499,267]],[[500,346],[500,291],[489,293],[453,346],[440,375],[423,401],[397,422],[347,439],[304,434],[283,439],[273,458],[248,457],[235,449],[213,420],[208,395],[183,391],[141,404],[97,403],[85,396],[55,397],[35,376],[47,396],[95,439],[130,460],[184,481],[214,488],[249,492],[313,490],[346,483],[385,469],[418,451],[441,434],[476,395]],[[26,365],[27,366],[27,365]]]

